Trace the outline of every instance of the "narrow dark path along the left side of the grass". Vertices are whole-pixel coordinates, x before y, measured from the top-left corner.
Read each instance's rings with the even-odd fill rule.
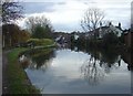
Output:
[[[2,94],[9,93],[9,85],[8,85],[8,76],[7,76],[7,66],[8,66],[8,58],[7,54],[10,51],[3,51],[2,52]]]

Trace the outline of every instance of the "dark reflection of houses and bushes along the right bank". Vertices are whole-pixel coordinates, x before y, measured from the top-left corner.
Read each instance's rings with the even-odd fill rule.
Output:
[[[100,61],[100,66],[106,65],[106,72],[110,72],[111,67],[117,68],[121,66],[121,60],[127,63],[127,70],[133,70],[133,60],[132,53],[120,53],[115,50],[106,51],[106,50],[95,50],[95,49],[90,49],[90,47],[82,47],[82,46],[71,46],[70,47],[72,51],[75,52],[84,52],[94,57],[95,60]],[[76,49],[76,50],[75,50]]]

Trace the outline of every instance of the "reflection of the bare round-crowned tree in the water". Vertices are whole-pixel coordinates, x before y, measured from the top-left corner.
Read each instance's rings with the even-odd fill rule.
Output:
[[[91,56],[81,66],[81,73],[91,85],[98,85],[104,78],[103,70],[98,64],[99,61]]]

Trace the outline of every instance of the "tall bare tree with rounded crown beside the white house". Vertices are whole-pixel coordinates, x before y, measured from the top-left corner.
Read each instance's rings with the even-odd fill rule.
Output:
[[[81,20],[81,26],[85,32],[93,31],[95,34],[95,31],[100,26],[103,18],[103,11],[98,8],[90,8],[85,11],[83,19]],[[96,36],[96,34],[94,36]]]

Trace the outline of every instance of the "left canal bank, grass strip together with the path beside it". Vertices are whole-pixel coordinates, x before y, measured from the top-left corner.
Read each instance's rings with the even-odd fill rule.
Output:
[[[3,92],[2,94],[39,94],[18,62],[18,55],[28,49],[18,47],[3,51]]]

